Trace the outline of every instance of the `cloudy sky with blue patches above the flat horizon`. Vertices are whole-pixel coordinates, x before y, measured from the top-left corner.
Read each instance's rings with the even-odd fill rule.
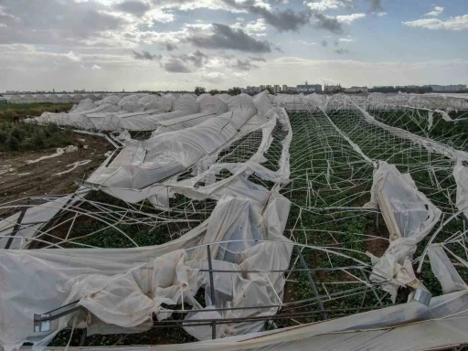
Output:
[[[0,0],[0,91],[468,82],[468,0]]]

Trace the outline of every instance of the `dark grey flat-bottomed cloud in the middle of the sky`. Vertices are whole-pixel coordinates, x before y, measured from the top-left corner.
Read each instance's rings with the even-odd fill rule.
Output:
[[[271,43],[266,40],[256,40],[242,29],[232,29],[219,23],[213,24],[211,35],[193,34],[186,41],[198,48],[228,48],[245,52],[271,52]]]

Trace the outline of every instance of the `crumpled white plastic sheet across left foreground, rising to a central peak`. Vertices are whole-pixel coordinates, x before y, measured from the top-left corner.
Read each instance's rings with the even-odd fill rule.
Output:
[[[148,323],[152,313],[160,318],[170,315],[170,310],[161,309],[161,303],[181,303],[184,298],[186,303],[199,308],[193,296],[200,286],[207,284],[206,274],[198,272],[207,260],[207,248],[203,244],[231,240],[211,245],[214,261],[230,262],[244,270],[253,267],[265,271],[274,270],[274,267],[286,270],[291,245],[258,243],[251,239],[289,242],[282,237],[289,206],[286,198],[272,195],[261,215],[247,199],[223,197],[205,223],[161,246],[122,250],[0,250],[0,276],[10,286],[9,293],[0,295],[0,321],[4,321],[1,322],[0,344],[5,350],[26,341],[36,343],[39,348],[46,346],[58,330],[68,324],[71,315],[53,322],[52,333],[34,333],[32,316],[76,300],[80,300],[80,305],[101,322],[120,328],[136,327],[137,330],[151,327]],[[189,250],[194,247],[197,248]],[[253,297],[259,306],[270,305],[278,303],[277,295],[282,295],[284,278],[281,272],[242,278],[239,275],[232,279],[230,294],[218,293],[216,306],[229,305],[231,300],[243,305],[251,303]],[[36,288],[31,291],[24,284]],[[215,288],[226,289],[227,286],[218,288],[217,285]],[[239,295],[245,289],[262,293],[259,296]],[[258,314],[258,311],[249,310],[249,314]],[[80,325],[84,322],[80,321]],[[229,328],[228,324],[222,333],[248,332],[251,325],[243,325]],[[197,334],[199,330],[193,333]]]

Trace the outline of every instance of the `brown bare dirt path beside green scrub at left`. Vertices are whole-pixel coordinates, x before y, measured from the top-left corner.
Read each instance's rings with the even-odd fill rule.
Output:
[[[21,154],[0,153],[0,203],[9,202],[28,196],[69,194],[78,186],[77,178],[85,179],[106,159],[106,152],[113,146],[101,137],[79,135],[80,142],[87,145],[78,151],[61,154],[35,164],[27,160],[55,154],[56,149],[32,151]],[[84,140],[84,142],[82,141]],[[86,165],[78,165],[74,170],[63,175],[76,162],[90,160]],[[71,165],[67,167],[68,165]],[[5,173],[4,173],[5,172]]]

